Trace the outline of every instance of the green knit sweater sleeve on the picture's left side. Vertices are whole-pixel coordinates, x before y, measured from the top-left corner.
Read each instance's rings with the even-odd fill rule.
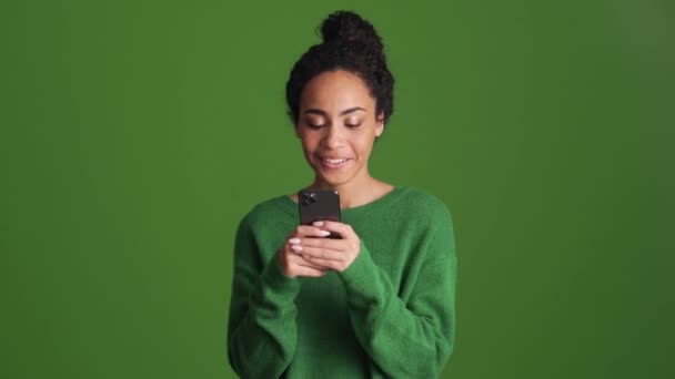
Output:
[[[276,259],[261,263],[250,226],[242,221],[234,242],[234,273],[228,321],[228,359],[243,378],[278,378],[295,352],[296,278]]]

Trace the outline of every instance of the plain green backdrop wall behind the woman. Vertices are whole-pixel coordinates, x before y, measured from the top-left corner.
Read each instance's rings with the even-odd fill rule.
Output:
[[[0,377],[229,378],[232,243],[306,185],[331,11],[384,37],[377,178],[451,208],[446,378],[674,378],[672,1],[3,1]]]

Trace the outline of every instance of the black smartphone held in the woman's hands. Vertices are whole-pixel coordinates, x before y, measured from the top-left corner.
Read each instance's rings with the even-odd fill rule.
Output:
[[[298,193],[298,207],[300,209],[300,224],[312,225],[318,221],[341,222],[340,195],[331,190],[302,190]],[[331,232],[329,238],[342,238]]]

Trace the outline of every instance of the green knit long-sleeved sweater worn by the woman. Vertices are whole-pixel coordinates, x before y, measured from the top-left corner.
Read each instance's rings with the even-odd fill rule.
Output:
[[[447,207],[412,187],[342,211],[361,252],[342,273],[286,277],[276,253],[299,224],[279,196],[240,223],[228,357],[243,378],[433,378],[455,334]]]

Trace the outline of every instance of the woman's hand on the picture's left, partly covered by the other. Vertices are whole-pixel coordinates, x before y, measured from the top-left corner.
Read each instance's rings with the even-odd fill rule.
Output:
[[[305,260],[302,255],[295,253],[291,246],[299,244],[302,238],[325,237],[329,234],[316,226],[300,225],[289,235],[283,246],[279,249],[276,258],[285,276],[294,278],[296,276],[321,277],[326,268],[314,265]]]

